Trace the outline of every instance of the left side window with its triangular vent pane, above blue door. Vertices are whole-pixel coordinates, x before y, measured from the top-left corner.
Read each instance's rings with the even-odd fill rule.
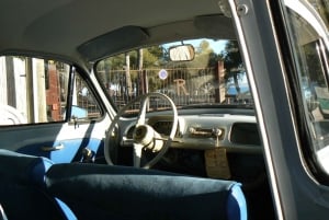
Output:
[[[69,109],[69,78],[70,66],[60,61],[0,57],[0,126],[64,121]],[[73,84],[71,116],[99,117],[100,108],[86,83],[76,77]]]

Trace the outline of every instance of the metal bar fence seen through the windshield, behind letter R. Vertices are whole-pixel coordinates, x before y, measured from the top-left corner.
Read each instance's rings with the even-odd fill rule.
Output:
[[[216,68],[110,70],[99,73],[116,106],[123,106],[136,96],[150,92],[167,94],[177,106],[220,100]],[[157,100],[151,103],[156,108],[166,106]]]

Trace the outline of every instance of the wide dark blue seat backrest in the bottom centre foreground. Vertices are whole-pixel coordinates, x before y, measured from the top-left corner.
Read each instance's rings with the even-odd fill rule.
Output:
[[[246,220],[240,184],[126,166],[54,164],[47,190],[79,220]]]

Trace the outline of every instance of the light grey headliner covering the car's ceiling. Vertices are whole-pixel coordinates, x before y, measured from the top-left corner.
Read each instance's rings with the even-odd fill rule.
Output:
[[[141,43],[164,42],[178,36],[206,33],[230,38],[234,31],[228,19],[213,16],[220,13],[216,0],[1,0],[0,53],[42,53],[78,62],[104,56],[104,51],[97,54],[95,49],[88,56],[84,47],[98,36],[107,36],[109,44],[117,45],[105,51],[109,55]],[[208,23],[208,18],[224,22]],[[131,34],[136,45],[125,45],[129,38],[121,38],[118,34],[109,38],[109,35],[113,36],[111,32],[125,26],[141,27],[147,37],[134,40],[134,34]],[[79,53],[79,47],[84,50]]]

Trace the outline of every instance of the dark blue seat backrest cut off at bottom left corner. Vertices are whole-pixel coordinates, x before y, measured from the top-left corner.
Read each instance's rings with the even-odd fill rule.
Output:
[[[0,149],[0,204],[8,219],[76,219],[59,199],[45,192],[46,158]]]

